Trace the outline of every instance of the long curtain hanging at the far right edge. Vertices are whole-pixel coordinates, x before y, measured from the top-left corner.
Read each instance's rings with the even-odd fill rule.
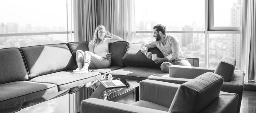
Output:
[[[256,80],[256,5],[255,0],[243,1],[242,15],[242,70],[244,81]]]

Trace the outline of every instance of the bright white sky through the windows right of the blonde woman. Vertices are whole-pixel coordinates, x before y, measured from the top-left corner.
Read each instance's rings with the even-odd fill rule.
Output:
[[[230,23],[230,8],[235,2],[214,0],[214,12],[218,13],[215,20],[219,25]],[[135,0],[135,11],[137,21],[166,22],[173,26],[192,25],[195,21],[198,26],[204,26],[205,0]],[[145,14],[149,16],[141,16]]]

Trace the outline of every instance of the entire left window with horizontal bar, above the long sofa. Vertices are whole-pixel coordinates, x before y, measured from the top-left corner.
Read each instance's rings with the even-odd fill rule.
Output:
[[[2,1],[0,48],[70,41],[71,4],[72,0]]]

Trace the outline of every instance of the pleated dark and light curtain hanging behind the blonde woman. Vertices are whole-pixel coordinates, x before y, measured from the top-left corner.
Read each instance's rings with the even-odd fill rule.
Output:
[[[135,37],[134,0],[74,0],[75,41],[92,40],[98,25],[133,42]]]

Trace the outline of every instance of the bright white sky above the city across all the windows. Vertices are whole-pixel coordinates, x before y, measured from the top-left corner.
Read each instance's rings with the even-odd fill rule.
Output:
[[[0,0],[0,23],[19,23],[19,26],[66,25],[65,0]],[[230,23],[230,7],[237,0],[214,0],[216,21]],[[58,4],[58,5],[56,5]],[[173,26],[204,26],[205,0],[135,0],[136,21],[165,22]],[[63,11],[65,10],[65,11]],[[145,13],[147,12],[147,13]]]

